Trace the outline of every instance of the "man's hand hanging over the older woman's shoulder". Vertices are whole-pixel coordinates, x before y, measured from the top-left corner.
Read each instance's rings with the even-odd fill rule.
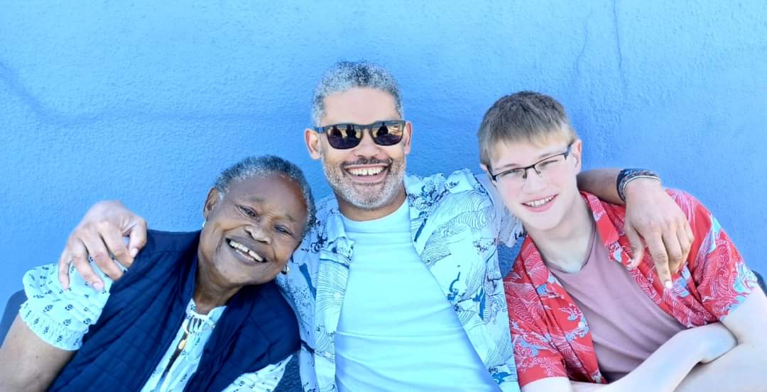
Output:
[[[123,237],[130,237],[127,247]],[[120,201],[100,201],[87,211],[74,228],[67,246],[58,260],[58,280],[61,287],[69,287],[69,265],[74,264],[83,278],[100,290],[104,282],[94,273],[88,255],[113,280],[120,279],[120,271],[112,257],[123,266],[130,267],[133,257],[146,245],[146,221],[133,214]]]

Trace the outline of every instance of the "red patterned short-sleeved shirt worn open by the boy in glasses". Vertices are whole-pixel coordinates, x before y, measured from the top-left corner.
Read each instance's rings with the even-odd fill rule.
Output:
[[[649,252],[629,272],[660,309],[687,328],[719,321],[752,292],[756,277],[700,201],[682,191],[667,192],[693,228],[690,256],[673,276],[671,289],[664,289]],[[628,269],[631,251],[623,230],[625,207],[593,194],[581,195],[611,260]],[[605,383],[583,313],[549,272],[529,236],[504,279],[504,289],[520,386],[548,377]]]

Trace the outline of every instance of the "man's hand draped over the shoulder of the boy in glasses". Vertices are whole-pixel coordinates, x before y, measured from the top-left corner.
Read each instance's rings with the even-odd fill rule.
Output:
[[[670,287],[671,275],[687,260],[694,238],[690,222],[660,181],[639,178],[627,185],[625,230],[634,250],[631,266],[644,257],[644,239],[658,276]]]

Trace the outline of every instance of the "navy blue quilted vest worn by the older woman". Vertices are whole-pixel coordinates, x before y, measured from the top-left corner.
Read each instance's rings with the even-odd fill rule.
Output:
[[[83,345],[50,390],[136,392],[181,328],[192,299],[199,231],[150,230],[146,247],[112,286]],[[298,349],[298,322],[274,282],[245,286],[227,303],[185,390],[220,391]]]

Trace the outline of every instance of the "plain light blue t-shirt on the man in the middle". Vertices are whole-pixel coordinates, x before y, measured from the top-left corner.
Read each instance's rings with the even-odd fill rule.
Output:
[[[408,211],[343,218],[354,253],[335,335],[338,390],[499,390],[416,253]]]

